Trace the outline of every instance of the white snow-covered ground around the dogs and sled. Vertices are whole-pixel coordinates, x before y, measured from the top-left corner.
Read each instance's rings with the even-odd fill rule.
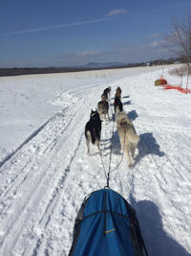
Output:
[[[171,84],[180,79],[164,78]],[[191,95],[154,86],[162,67],[0,78],[0,255],[68,255],[74,219],[91,192],[106,185],[122,157],[113,121],[117,86],[140,142],[110,187],[136,209],[149,255],[191,255]],[[102,160],[88,156],[91,108],[112,87],[102,123]],[[114,128],[114,132],[113,132]],[[103,167],[104,162],[104,167]]]

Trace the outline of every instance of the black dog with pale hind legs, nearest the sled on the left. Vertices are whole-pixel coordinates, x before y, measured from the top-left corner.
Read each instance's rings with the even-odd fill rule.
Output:
[[[90,153],[90,142],[96,144],[99,153],[101,154],[99,142],[101,138],[101,120],[97,111],[91,112],[90,120],[85,127],[86,144],[88,147],[88,154]]]

